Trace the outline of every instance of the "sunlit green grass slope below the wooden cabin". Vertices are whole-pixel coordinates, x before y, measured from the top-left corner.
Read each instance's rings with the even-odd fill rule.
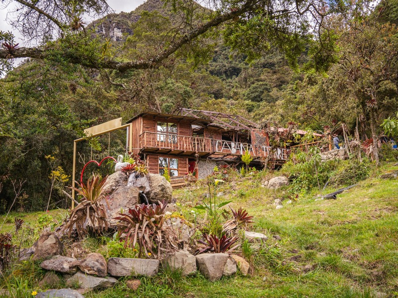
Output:
[[[233,179],[217,188],[217,200],[233,200],[231,207],[246,208],[254,216],[252,230],[269,237],[264,244],[249,243],[244,249],[245,257],[253,261],[251,276],[238,274],[210,283],[199,273],[182,278],[166,270],[155,278],[142,277],[137,292],[121,280],[115,288],[85,297],[394,297],[398,294],[398,181],[379,178],[394,170],[398,166],[385,164],[337,200],[316,200],[313,191],[291,204],[284,200],[279,210],[274,200],[286,197],[286,189],[261,186],[270,173]],[[176,190],[182,215],[192,219],[192,206],[206,200],[207,191],[200,185]],[[26,215],[24,220],[34,225],[38,215]],[[100,241],[91,238],[83,247],[101,251]],[[36,266],[25,262],[14,274],[28,278],[36,288],[44,274],[40,270],[32,274]]]

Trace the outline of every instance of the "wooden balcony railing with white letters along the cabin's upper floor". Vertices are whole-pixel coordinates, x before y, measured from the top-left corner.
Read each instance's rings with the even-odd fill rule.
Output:
[[[286,148],[273,150],[271,147],[263,145],[151,132],[144,132],[140,135],[140,148],[233,155],[242,155],[248,150],[254,157],[265,158],[271,154],[276,159],[282,160],[286,160],[290,152]]]

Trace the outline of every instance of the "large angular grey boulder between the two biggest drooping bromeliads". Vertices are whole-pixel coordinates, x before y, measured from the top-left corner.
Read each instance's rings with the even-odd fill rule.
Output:
[[[108,215],[113,218],[120,213],[121,209],[123,209],[123,212],[127,212],[130,207],[139,204],[139,190],[136,187],[120,186],[109,195],[107,201],[109,208],[105,199],[102,199],[101,202],[106,207]]]

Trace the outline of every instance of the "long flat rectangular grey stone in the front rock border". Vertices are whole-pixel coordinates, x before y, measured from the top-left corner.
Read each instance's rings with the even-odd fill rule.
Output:
[[[159,270],[159,261],[152,259],[109,258],[108,273],[111,276],[155,276]]]

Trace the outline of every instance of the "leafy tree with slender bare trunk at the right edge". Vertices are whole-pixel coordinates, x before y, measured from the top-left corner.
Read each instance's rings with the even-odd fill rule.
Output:
[[[370,120],[377,165],[377,121],[397,104],[398,30],[370,19],[352,22],[339,40],[340,59],[331,76]]]

